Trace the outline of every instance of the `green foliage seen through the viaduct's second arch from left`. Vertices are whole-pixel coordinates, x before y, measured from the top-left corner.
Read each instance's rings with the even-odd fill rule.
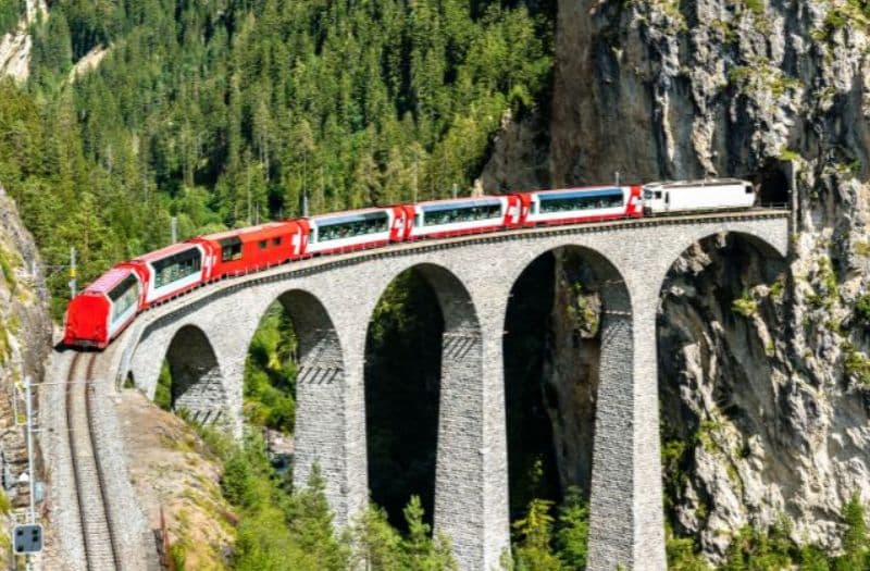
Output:
[[[291,434],[296,422],[296,333],[276,301],[251,340],[245,362],[245,417],[251,424]]]

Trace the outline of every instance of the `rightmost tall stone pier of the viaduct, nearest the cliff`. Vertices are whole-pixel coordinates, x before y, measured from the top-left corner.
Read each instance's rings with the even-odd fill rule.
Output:
[[[586,569],[663,571],[656,311],[620,306],[601,321]]]

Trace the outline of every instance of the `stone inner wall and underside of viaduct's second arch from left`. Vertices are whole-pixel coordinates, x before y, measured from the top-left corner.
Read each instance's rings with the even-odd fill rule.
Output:
[[[293,321],[297,339],[294,485],[304,486],[316,464],[333,509],[344,517],[340,498],[346,475],[345,358],[341,343],[326,307],[312,293],[289,289],[276,301]],[[251,332],[251,339],[254,333]],[[246,347],[250,347],[250,343],[249,339]]]

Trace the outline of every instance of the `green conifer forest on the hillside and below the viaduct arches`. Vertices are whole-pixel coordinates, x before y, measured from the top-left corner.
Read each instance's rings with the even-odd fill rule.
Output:
[[[556,10],[555,0],[51,2],[32,26],[29,79],[0,83],[0,183],[52,269],[54,318],[71,247],[84,284],[169,244],[172,218],[184,239],[298,216],[303,197],[316,213],[468,193],[502,124],[548,105]],[[22,11],[0,0],[0,30]],[[74,69],[103,50],[96,70]],[[527,287],[551,287],[551,270],[534,269]],[[515,323],[506,361],[515,485],[505,564],[582,569],[588,491],[559,487],[538,385],[552,300],[520,302],[540,319]],[[366,382],[373,506],[345,534],[333,534],[316,474],[293,489],[256,435],[235,446],[203,432],[240,514],[228,568],[456,568],[432,531],[443,332],[432,315],[437,300],[413,272],[376,310],[366,346],[366,378],[377,377]],[[293,433],[295,343],[277,303],[245,372],[251,427]],[[418,382],[405,383],[414,367]],[[161,378],[158,401],[171,408],[166,368]],[[397,430],[407,418],[423,419],[419,430]],[[667,446],[662,462],[666,479],[687,468]],[[723,568],[868,569],[863,508],[854,499],[842,516],[843,554],[794,544],[783,520],[735,533]],[[673,569],[709,569],[694,539],[670,527],[668,554]],[[183,568],[184,554],[173,555]]]

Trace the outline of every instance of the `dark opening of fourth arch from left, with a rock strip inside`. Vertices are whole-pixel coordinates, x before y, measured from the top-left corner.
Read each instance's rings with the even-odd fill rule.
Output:
[[[545,252],[514,282],[504,337],[511,520],[534,498],[588,504],[599,385],[624,382],[601,372],[631,359],[620,349],[632,347],[630,322],[622,277],[593,250]]]

